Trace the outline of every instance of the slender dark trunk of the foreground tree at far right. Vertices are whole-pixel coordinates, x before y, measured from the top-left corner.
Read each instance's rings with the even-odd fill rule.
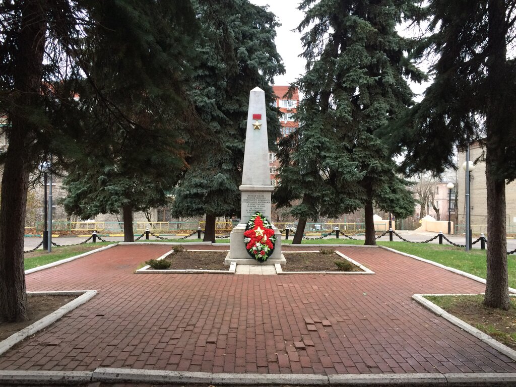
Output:
[[[490,308],[509,309],[507,240],[505,226],[505,179],[500,176],[497,163],[503,160],[505,151],[505,117],[512,109],[504,92],[507,82],[505,42],[505,2],[490,0],[488,6],[488,101],[486,112],[486,185],[487,185],[487,227],[489,246],[487,249],[486,296],[484,304]]]

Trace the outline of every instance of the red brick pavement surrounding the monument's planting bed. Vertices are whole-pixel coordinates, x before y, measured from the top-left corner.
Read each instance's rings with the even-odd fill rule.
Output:
[[[31,291],[99,295],[8,351],[0,369],[516,372],[511,359],[411,300],[483,291],[438,267],[379,248],[342,247],[376,275],[133,273],[169,249],[118,246],[28,275]]]

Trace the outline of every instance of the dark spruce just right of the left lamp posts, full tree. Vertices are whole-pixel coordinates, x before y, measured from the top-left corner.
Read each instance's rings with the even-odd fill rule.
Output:
[[[68,151],[75,145],[88,152],[72,154],[63,185],[68,213],[89,218],[122,212],[124,241],[133,241],[133,212],[166,205],[165,191],[186,167],[182,82],[194,56],[186,50],[191,41],[174,5],[135,2],[124,12],[127,6],[103,2],[91,12],[99,21],[87,30],[95,83],[80,90],[79,105],[93,113],[95,135],[93,141],[65,143]],[[189,22],[195,25],[193,18]]]

